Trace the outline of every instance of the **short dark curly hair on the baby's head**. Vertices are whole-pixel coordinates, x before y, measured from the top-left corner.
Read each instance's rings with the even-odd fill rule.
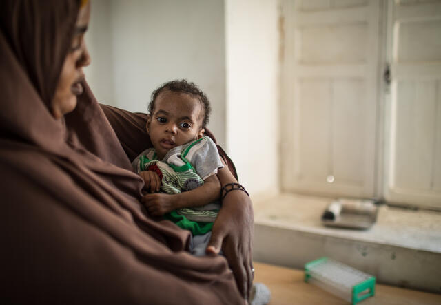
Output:
[[[148,112],[153,114],[154,112],[154,103],[156,98],[164,92],[165,90],[169,90],[177,93],[186,93],[194,98],[198,98],[204,108],[204,118],[202,121],[202,127],[205,128],[208,124],[209,114],[212,112],[212,107],[209,105],[209,101],[205,93],[199,89],[198,85],[192,82],[188,82],[185,79],[169,81],[167,83],[163,83],[159,86],[154,92],[152,92],[152,96],[150,99],[150,103],[148,106]]]

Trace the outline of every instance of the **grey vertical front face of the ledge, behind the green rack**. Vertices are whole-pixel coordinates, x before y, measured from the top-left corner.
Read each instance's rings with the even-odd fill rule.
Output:
[[[276,249],[276,251],[275,251]],[[440,293],[441,254],[267,226],[254,226],[254,260],[303,269],[331,257],[377,278],[378,283]]]

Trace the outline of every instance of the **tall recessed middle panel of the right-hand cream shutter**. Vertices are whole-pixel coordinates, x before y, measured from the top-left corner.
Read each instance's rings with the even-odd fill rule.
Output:
[[[400,81],[397,88],[393,187],[429,191],[433,174],[435,81]]]

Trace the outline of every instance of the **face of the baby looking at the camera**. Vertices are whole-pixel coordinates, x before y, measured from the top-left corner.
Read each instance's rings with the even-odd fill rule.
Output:
[[[164,91],[156,98],[154,112],[147,120],[147,132],[158,159],[173,147],[203,136],[203,107],[189,94]]]

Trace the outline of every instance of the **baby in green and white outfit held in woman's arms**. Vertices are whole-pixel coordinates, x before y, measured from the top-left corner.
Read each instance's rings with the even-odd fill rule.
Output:
[[[153,148],[132,163],[150,191],[143,198],[149,213],[191,231],[190,251],[198,256],[205,255],[220,209],[216,173],[223,165],[216,145],[204,136],[210,110],[194,83],[170,81],[158,87],[146,125]]]

